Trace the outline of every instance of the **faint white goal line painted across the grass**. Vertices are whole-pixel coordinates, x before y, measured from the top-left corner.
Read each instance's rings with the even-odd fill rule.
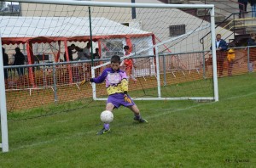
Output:
[[[256,94],[256,92],[250,92],[248,94],[245,94],[245,95],[238,95],[238,96],[234,96],[234,97],[230,97],[230,98],[225,98],[223,100],[230,100],[230,99],[236,99],[236,98],[243,98],[243,97],[247,97],[247,96],[251,96],[253,94]],[[163,112],[163,113],[160,113],[160,114],[157,114],[157,115],[151,115],[151,116],[147,116],[147,119],[151,119],[151,118],[157,118],[157,117],[160,117],[162,115],[168,115],[168,114],[171,114],[171,113],[174,113],[174,112],[182,112],[182,111],[186,111],[188,109],[193,109],[193,108],[196,108],[196,107],[200,107],[200,106],[203,106],[203,105],[206,105],[206,104],[216,104],[218,102],[210,102],[210,103],[198,103],[196,105],[193,105],[193,106],[189,106],[187,108],[183,108],[183,109],[173,109],[173,110],[170,110],[170,109],[160,109],[159,111],[160,112]],[[156,110],[158,111],[158,110]],[[86,134],[95,134],[96,136],[96,131],[95,130],[92,130],[90,132],[78,132],[76,134],[73,134],[72,136],[69,136],[69,137],[64,137],[65,139],[73,139],[75,137],[81,137],[81,136],[84,136]],[[42,144],[49,144],[49,143],[54,143],[54,142],[57,142],[59,141],[60,139],[63,139],[63,137],[58,137],[58,138],[52,138],[48,141],[42,141],[42,142],[39,142],[39,143],[31,143],[31,144],[27,144],[27,145],[21,145],[20,147],[17,147],[17,148],[10,148],[10,151],[15,151],[15,150],[18,150],[20,148],[30,148],[30,147],[36,147],[36,146],[39,146],[39,145],[42,145]],[[11,145],[10,145],[11,146]]]

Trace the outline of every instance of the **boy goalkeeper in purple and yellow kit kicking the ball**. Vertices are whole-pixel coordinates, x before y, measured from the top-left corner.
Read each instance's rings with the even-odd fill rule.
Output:
[[[111,58],[111,68],[103,70],[102,75],[96,78],[90,78],[90,82],[102,83],[106,81],[106,88],[108,92],[108,101],[106,110],[113,111],[114,108],[119,108],[123,105],[134,113],[134,120],[147,123],[148,121],[143,119],[140,115],[140,111],[137,105],[131,100],[128,95],[128,81],[124,70],[119,70],[121,59],[118,55],[113,55]],[[110,132],[109,124],[104,123],[104,127],[97,135],[102,135]]]

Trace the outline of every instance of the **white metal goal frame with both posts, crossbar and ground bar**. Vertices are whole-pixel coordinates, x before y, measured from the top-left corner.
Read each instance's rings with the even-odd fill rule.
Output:
[[[3,0],[1,0],[3,1]],[[156,73],[157,73],[157,85],[158,85],[158,98],[137,98],[137,100],[176,100],[176,99],[208,99],[218,101],[218,77],[217,77],[217,61],[216,61],[216,47],[215,47],[215,20],[214,20],[214,5],[212,4],[159,4],[159,3],[103,3],[103,2],[90,2],[90,1],[74,1],[74,0],[14,0],[12,2],[17,3],[43,3],[43,4],[62,4],[62,5],[73,5],[73,6],[97,6],[97,7],[125,7],[125,8],[209,8],[211,15],[211,31],[212,31],[212,67],[213,67],[213,89],[214,95],[212,98],[162,98],[160,95],[160,64],[158,55],[158,46],[164,44],[161,42],[157,45],[152,46],[156,51]],[[0,47],[1,32],[0,32]],[[146,48],[148,49],[148,48]],[[2,48],[0,49],[0,55],[3,58]],[[131,54],[132,56],[133,54]],[[105,63],[105,64],[109,64]],[[92,67],[92,76],[95,76],[95,70],[98,66]],[[3,59],[0,59],[0,92],[5,92],[4,87],[4,76],[3,76]],[[105,100],[105,98],[96,98],[96,85],[93,84],[93,98],[95,100]],[[8,123],[7,123],[7,107],[5,94],[1,94],[0,97],[1,105],[1,131],[2,131],[2,143],[0,147],[3,152],[9,152],[9,140],[8,140]]]

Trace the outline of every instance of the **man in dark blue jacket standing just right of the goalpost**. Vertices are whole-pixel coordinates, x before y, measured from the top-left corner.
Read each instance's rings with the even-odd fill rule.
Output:
[[[218,70],[218,76],[223,76],[223,66],[224,66],[224,58],[227,56],[227,42],[225,42],[223,39],[221,39],[221,35],[217,34],[216,36],[216,56],[217,56],[217,70]],[[211,47],[212,49],[212,47]]]

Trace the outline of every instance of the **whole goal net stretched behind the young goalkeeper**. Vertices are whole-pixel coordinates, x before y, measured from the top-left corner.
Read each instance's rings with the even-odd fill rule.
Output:
[[[213,5],[143,0],[15,2],[20,8],[0,16],[1,46],[9,55],[9,66],[4,66],[8,76],[3,79],[1,74],[7,111],[46,109],[56,102],[75,102],[79,108],[92,98],[106,99],[103,83],[92,88],[79,83],[100,76],[113,55],[132,60],[127,74],[129,94],[136,100],[218,101],[216,53],[200,43],[209,32],[208,43],[214,42]],[[211,17],[191,14],[199,10]],[[25,55],[25,64],[13,65],[17,47]],[[121,69],[126,71],[127,65]],[[69,105],[63,108],[68,110]]]

